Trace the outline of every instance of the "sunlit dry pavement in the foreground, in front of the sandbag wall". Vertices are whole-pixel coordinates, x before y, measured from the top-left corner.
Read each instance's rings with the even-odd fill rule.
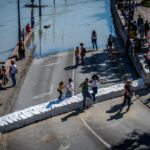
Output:
[[[134,97],[127,112],[122,101],[101,102],[1,135],[2,143],[8,150],[149,149],[150,110]]]

